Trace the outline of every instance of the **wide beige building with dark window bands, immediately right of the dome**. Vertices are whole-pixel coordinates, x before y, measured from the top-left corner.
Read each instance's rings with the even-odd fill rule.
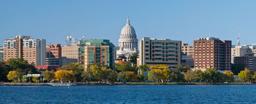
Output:
[[[140,40],[139,47],[140,65],[181,65],[181,41],[144,37]]]

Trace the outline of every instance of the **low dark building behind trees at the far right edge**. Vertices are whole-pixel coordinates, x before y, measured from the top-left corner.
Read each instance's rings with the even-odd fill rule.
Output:
[[[244,56],[235,56],[234,64],[244,64],[251,71],[256,70],[256,57],[254,54],[245,54]]]

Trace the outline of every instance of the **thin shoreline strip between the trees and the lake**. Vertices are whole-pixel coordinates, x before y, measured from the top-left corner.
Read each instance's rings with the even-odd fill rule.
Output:
[[[136,86],[136,85],[147,85],[147,86],[154,86],[154,85],[170,85],[170,86],[175,86],[175,85],[256,85],[256,84],[243,84],[243,83],[229,83],[229,84],[195,84],[195,83],[163,83],[163,84],[155,84],[155,83],[117,83],[117,84],[102,84],[102,83],[72,83],[75,85],[71,86],[104,86],[104,85],[109,85],[109,86],[117,86],[117,85],[122,85],[122,86]],[[70,83],[12,83],[12,82],[2,82],[0,83],[0,86],[53,86],[53,85],[70,85]]]

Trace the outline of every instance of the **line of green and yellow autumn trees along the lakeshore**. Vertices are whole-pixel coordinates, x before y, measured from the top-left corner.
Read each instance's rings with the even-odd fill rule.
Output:
[[[42,76],[26,76],[41,74]],[[234,79],[238,75],[238,79]],[[136,61],[122,61],[110,67],[91,64],[86,70],[78,63],[64,65],[57,70],[40,73],[34,64],[23,59],[9,59],[0,63],[1,85],[237,85],[254,84],[256,72],[245,69],[220,72],[214,68],[191,70],[189,67],[167,65],[140,65]]]

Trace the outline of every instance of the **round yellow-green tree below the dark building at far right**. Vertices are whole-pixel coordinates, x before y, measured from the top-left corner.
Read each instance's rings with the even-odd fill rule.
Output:
[[[239,77],[240,81],[248,82],[248,81],[250,81],[252,75],[250,74],[249,69],[245,68],[245,70],[239,72],[238,77]]]

